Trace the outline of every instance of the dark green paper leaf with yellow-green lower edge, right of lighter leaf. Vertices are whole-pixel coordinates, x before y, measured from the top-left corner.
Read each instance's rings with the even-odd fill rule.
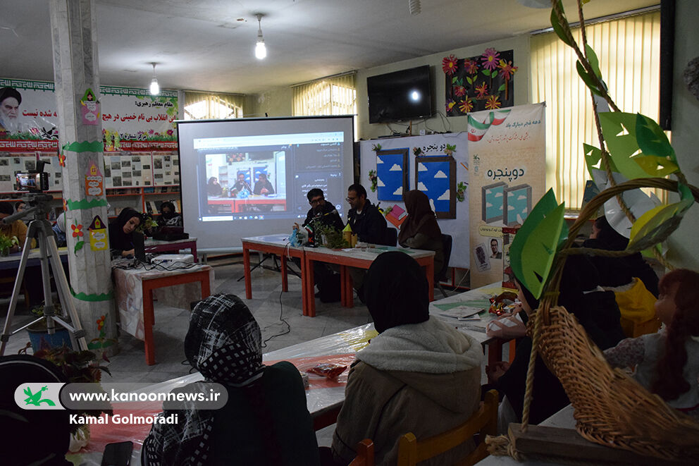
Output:
[[[634,160],[646,173],[662,177],[679,171],[675,151],[655,121],[636,114],[636,140],[643,155]]]

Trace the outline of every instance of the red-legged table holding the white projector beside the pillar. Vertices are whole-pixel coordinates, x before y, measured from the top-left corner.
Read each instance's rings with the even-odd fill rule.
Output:
[[[113,262],[117,264],[117,261]],[[196,265],[190,269],[118,269],[113,268],[116,305],[120,328],[144,343],[146,364],[155,364],[153,343],[153,290],[185,283],[202,283],[202,299],[211,294],[211,276],[214,269],[208,265]],[[190,300],[183,299],[178,307],[189,309]]]

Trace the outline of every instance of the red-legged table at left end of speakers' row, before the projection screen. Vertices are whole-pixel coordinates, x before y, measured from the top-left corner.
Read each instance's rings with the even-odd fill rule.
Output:
[[[245,269],[245,298],[252,299],[252,276],[250,275],[250,251],[268,252],[278,255],[281,260],[282,269],[282,291],[289,290],[289,281],[287,276],[286,262],[287,257],[297,257],[301,260],[301,280],[306,276],[306,268],[304,265],[304,248],[292,247],[289,244],[289,236],[284,234],[278,235],[263,235],[242,238],[242,261],[243,269]],[[313,295],[311,294],[311,298]],[[306,308],[307,295],[305,288],[301,290],[302,309]]]

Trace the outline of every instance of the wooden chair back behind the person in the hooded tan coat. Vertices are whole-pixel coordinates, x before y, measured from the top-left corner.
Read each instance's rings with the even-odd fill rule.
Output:
[[[497,402],[497,391],[490,390],[485,393],[485,401],[481,403],[478,411],[474,412],[474,415],[469,417],[469,420],[464,424],[423,441],[417,441],[412,432],[405,434],[398,440],[397,466],[416,465],[459,446],[471,439],[474,434],[479,433],[481,443],[478,444],[476,450],[458,463],[459,465],[476,464],[488,456],[485,450],[485,435],[495,435],[497,430]]]

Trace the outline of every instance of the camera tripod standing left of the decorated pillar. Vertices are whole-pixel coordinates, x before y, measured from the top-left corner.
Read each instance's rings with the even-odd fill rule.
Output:
[[[51,195],[30,195],[27,197],[27,200],[25,200],[25,202],[31,206],[30,209],[7,216],[2,220],[3,223],[8,225],[28,214],[34,214],[34,219],[29,223],[27,239],[25,240],[22,250],[22,258],[20,259],[20,266],[17,269],[17,278],[15,280],[14,288],[12,289],[10,308],[7,311],[2,336],[0,336],[0,356],[4,355],[5,346],[7,345],[7,342],[10,340],[11,336],[19,331],[23,331],[28,326],[35,324],[44,318],[46,318],[49,334],[55,333],[56,323],[58,323],[70,333],[70,342],[73,344],[74,350],[78,350],[78,348],[81,350],[87,350],[85,331],[80,325],[78,310],[75,309],[75,303],[73,303],[73,299],[70,298],[68,279],[66,278],[66,273],[63,271],[63,266],[61,265],[61,257],[58,255],[58,247],[56,246],[54,231],[51,229],[51,223],[49,223],[49,221],[46,219],[49,211],[49,201],[52,199],[53,197],[51,197]],[[39,246],[39,260],[41,261],[42,265],[42,283],[44,285],[44,316],[35,319],[16,331],[11,331],[12,318],[17,307],[17,298],[20,293],[20,286],[24,278],[27,260],[29,259],[30,249],[32,247],[32,238],[36,238],[37,240],[37,245]],[[61,302],[62,314],[56,314],[54,302],[51,298],[49,261],[51,262],[51,268],[54,270],[54,280],[56,281],[56,290],[58,290],[58,300]],[[68,318],[70,318],[70,323],[67,321]]]

